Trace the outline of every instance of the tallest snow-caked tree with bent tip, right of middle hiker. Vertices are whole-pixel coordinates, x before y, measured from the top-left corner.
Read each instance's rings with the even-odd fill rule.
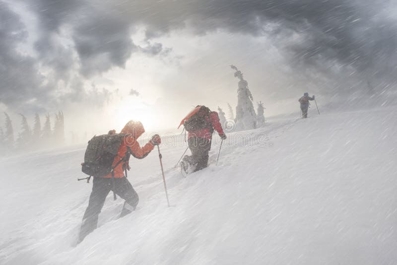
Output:
[[[236,70],[234,76],[240,79],[237,90],[236,131],[255,129],[257,114],[252,104],[254,98],[248,88],[248,82],[244,80],[243,73],[236,66],[231,67]]]

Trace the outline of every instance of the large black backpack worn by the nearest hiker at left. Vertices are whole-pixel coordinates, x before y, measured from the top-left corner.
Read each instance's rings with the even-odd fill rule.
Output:
[[[104,134],[92,137],[85,150],[81,171],[94,177],[109,175],[116,166],[125,161],[121,159],[112,167],[123,138],[124,134]]]

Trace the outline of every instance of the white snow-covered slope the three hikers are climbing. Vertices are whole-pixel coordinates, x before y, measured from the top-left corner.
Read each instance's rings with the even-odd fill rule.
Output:
[[[185,146],[131,160],[137,211],[76,246],[91,184],[84,148],[0,160],[0,264],[397,264],[396,107],[269,120],[231,134],[214,165],[183,178]]]

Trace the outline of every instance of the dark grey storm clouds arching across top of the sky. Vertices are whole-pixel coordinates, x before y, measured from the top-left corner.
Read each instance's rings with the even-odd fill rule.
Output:
[[[137,52],[167,56],[172,47],[165,48],[152,40],[183,28],[197,35],[220,29],[265,36],[283,52],[290,67],[302,74],[319,73],[335,82],[345,76],[357,86],[364,84],[365,88],[380,90],[396,83],[397,9],[392,1],[31,0],[23,3],[39,21],[38,40],[34,44],[38,56],[18,52],[18,44],[26,41],[28,32],[19,15],[1,3],[0,100],[6,105],[44,102],[53,96],[59,80],[69,84],[72,91],[67,95],[79,95],[81,83],[73,79],[83,80],[113,67],[123,68]],[[145,28],[147,45],[143,47],[131,38],[139,26]],[[59,36],[67,38],[69,43],[65,44]],[[51,86],[43,83],[39,66],[51,68]]]

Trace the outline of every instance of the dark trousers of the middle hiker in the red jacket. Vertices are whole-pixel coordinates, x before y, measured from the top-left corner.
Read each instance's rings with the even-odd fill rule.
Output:
[[[211,149],[211,141],[206,138],[190,137],[188,140],[192,155],[186,155],[184,160],[191,165],[196,165],[194,172],[208,166],[208,152]]]

